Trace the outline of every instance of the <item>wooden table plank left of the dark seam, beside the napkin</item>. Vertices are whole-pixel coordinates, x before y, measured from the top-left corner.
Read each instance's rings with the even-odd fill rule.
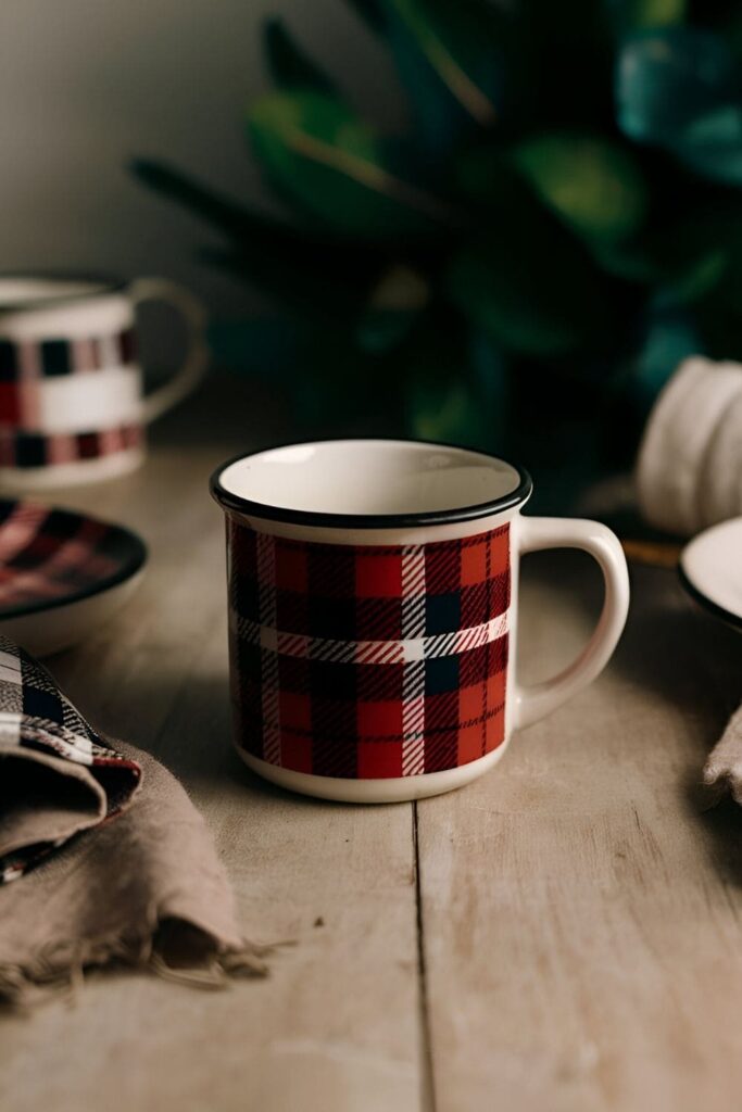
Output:
[[[204,443],[191,418],[156,441],[138,475],[65,498],[139,528],[151,563],[126,613],[49,663],[101,728],[182,778],[246,933],[295,945],[278,951],[268,980],[224,992],[91,975],[71,1007],[6,1017],[3,1112],[421,1106],[412,807],[290,796],[230,748],[224,529],[207,480],[244,445],[224,426],[219,443]]]

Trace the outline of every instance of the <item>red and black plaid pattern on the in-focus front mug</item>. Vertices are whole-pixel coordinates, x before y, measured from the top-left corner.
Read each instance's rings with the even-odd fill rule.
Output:
[[[228,518],[238,743],[378,778],[476,761],[505,734],[508,526],[409,546],[314,544]]]

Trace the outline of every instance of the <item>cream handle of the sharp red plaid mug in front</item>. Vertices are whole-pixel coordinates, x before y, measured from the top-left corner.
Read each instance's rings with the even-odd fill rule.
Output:
[[[543,548],[580,548],[593,556],[603,573],[603,610],[582,653],[553,679],[515,685],[515,726],[530,726],[586,687],[603,671],[619,642],[629,613],[629,568],[623,548],[611,529],[597,522],[562,517],[522,517],[518,557]]]

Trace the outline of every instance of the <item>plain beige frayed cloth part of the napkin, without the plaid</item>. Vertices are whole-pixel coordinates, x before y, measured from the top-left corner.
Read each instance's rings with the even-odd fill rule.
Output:
[[[207,987],[265,973],[265,951],[243,939],[229,881],[182,786],[151,756],[112,747],[141,767],[140,785],[93,830],[107,814],[105,770],[31,752],[0,763],[0,841],[81,832],[0,887],[0,999],[32,1002],[112,961]]]

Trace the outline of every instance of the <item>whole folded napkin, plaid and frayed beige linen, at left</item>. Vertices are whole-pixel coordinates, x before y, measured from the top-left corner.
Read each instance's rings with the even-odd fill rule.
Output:
[[[109,744],[0,637],[0,1000],[119,962],[217,987],[263,974],[211,836],[151,756]]]

